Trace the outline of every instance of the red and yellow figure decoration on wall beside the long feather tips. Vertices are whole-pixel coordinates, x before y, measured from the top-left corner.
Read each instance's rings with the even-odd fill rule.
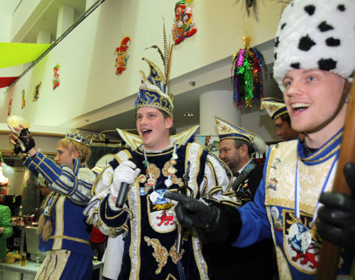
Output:
[[[192,0],[182,0],[175,4],[175,18],[173,24],[173,39],[175,45],[197,32],[195,21],[192,19],[192,9],[187,6]]]

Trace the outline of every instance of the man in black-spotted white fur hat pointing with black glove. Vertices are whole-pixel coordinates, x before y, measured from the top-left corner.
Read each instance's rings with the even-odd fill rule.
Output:
[[[354,273],[355,199],[329,193],[337,184],[334,175],[354,75],[354,14],[351,0],[295,0],[280,18],[273,75],[293,129],[305,138],[268,152],[254,201],[236,209],[229,220],[239,227],[238,232],[229,230],[236,247],[273,237],[280,279],[314,279],[322,238],[344,248],[337,274],[351,278]],[[346,168],[354,194],[355,168],[351,163]],[[168,197],[182,201],[175,207],[182,225],[198,228],[202,237],[211,234],[203,226],[213,217],[211,206]],[[214,217],[216,227],[225,219],[220,213]],[[219,237],[218,231],[213,233]]]

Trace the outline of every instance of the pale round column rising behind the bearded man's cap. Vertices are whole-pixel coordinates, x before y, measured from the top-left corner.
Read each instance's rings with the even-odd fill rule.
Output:
[[[200,96],[200,134],[218,135],[214,116],[232,124],[241,124],[241,110],[233,102],[233,92],[220,90]]]

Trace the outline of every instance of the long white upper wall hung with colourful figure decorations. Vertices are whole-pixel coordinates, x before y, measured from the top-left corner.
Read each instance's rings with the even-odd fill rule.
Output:
[[[25,1],[26,2],[26,1]],[[72,33],[48,53],[16,85],[1,96],[0,123],[6,122],[9,100],[13,98],[11,114],[26,117],[31,124],[70,127],[71,120],[120,102],[138,92],[138,71],[148,72],[141,58],[156,63],[160,57],[155,50],[143,50],[157,44],[163,48],[163,20],[170,34],[176,1],[116,0],[105,1]],[[175,47],[171,77],[198,70],[226,58],[244,48],[246,18],[234,0],[193,1],[197,33]],[[251,45],[268,41],[275,35],[280,16],[276,1],[260,6],[259,18],[248,21]],[[128,69],[115,75],[114,50],[123,36],[131,37]],[[53,67],[60,63],[60,87],[53,90]],[[162,64],[159,64],[160,67]],[[162,68],[162,67],[161,67]],[[33,102],[35,85],[42,82],[40,98]],[[21,109],[21,92],[26,90],[26,107]],[[174,92],[175,93],[175,92]],[[178,92],[180,93],[180,92]],[[121,112],[133,108],[124,106]],[[115,112],[119,114],[121,112]]]

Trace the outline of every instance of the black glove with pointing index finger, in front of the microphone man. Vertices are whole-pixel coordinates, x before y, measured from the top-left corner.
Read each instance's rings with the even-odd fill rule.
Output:
[[[179,202],[175,206],[175,215],[182,227],[195,227],[212,232],[218,226],[220,210],[216,205],[206,205],[200,200],[169,190],[165,191],[164,197]]]

